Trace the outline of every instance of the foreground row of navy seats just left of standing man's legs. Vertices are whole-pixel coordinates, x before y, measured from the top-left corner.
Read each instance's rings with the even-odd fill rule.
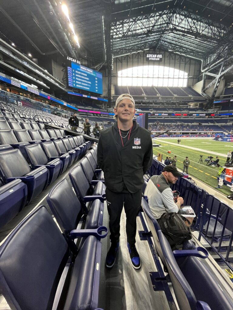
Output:
[[[91,157],[92,158],[91,158]],[[0,291],[11,309],[98,308],[105,185],[90,164],[96,148],[49,192],[0,247]],[[94,164],[95,168],[95,164]],[[86,178],[91,177],[91,181]]]

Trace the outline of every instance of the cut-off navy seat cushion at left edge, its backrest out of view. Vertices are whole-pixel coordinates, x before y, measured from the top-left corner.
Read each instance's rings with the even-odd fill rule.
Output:
[[[20,179],[0,187],[0,228],[13,219],[25,206],[27,185]]]

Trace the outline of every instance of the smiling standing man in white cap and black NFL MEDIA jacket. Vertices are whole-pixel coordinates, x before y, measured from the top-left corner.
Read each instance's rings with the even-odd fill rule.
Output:
[[[152,164],[153,147],[150,132],[135,121],[135,102],[122,94],[114,108],[117,122],[100,132],[97,160],[103,170],[109,214],[111,247],[105,264],[111,268],[119,249],[121,212],[126,213],[127,247],[133,267],[141,261],[135,247],[136,218],[141,207],[143,175]]]

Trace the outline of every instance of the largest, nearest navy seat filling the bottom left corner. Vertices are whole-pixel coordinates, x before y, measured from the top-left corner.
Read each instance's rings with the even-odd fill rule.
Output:
[[[0,247],[0,290],[11,309],[48,310],[53,304],[63,310],[98,308],[101,242],[89,236],[74,262],[69,256],[67,242],[44,206],[23,219]],[[62,275],[65,267],[68,272]]]

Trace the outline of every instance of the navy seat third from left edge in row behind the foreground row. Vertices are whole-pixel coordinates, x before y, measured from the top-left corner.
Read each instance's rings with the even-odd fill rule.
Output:
[[[53,183],[62,173],[62,161],[59,158],[49,161],[39,143],[28,145],[25,149],[33,169],[40,166],[48,168],[48,184]]]

